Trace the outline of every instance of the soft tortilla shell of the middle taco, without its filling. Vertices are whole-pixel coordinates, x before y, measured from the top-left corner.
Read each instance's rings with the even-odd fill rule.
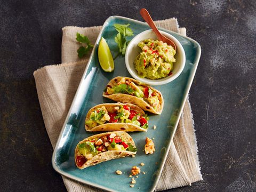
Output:
[[[90,119],[91,113],[102,106],[105,106],[106,109],[108,110],[109,107],[116,107],[120,105],[127,105],[130,107],[131,110],[138,111],[140,115],[145,115],[145,112],[139,108],[138,106],[132,105],[130,103],[103,103],[97,106],[94,106],[91,108],[85,118],[85,121]],[[132,132],[132,131],[147,131],[148,129],[143,129],[142,127],[132,124],[132,123],[106,123],[102,125],[98,125],[90,129],[89,126],[85,125],[85,130],[86,131],[125,131],[125,132]]]

